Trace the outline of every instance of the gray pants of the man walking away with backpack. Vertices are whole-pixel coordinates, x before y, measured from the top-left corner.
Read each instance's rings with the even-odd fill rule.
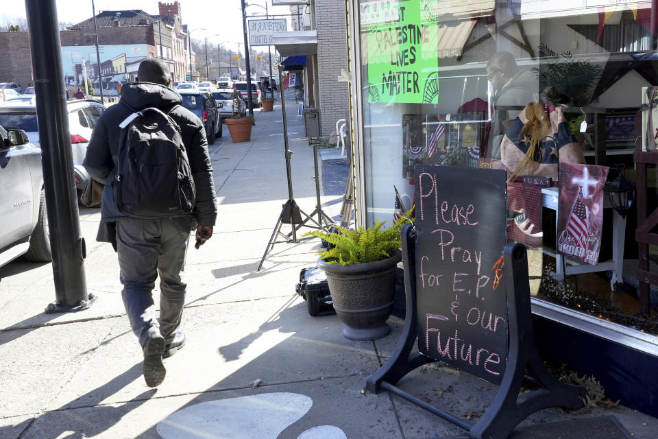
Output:
[[[143,347],[149,334],[173,340],[185,305],[183,270],[191,217],[117,221],[117,253],[123,285],[123,305],[130,326]],[[160,321],[153,288],[160,274]]]

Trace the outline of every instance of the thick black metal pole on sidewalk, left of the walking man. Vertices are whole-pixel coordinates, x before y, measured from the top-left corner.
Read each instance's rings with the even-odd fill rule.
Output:
[[[25,10],[53,252],[56,303],[47,311],[83,309],[90,297],[84,276],[84,238],[77,211],[57,8],[55,0],[25,0]]]

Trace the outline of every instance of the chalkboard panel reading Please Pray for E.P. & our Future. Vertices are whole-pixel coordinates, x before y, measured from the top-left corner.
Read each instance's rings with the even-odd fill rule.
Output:
[[[418,350],[492,383],[507,358],[506,178],[415,167]]]

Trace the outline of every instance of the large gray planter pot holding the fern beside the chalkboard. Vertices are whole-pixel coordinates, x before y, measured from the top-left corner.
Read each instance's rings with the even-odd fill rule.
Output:
[[[393,308],[395,267],[402,252],[377,262],[356,265],[327,263],[318,259],[317,266],[327,274],[334,310],[350,340],[375,340],[390,331],[386,320]]]

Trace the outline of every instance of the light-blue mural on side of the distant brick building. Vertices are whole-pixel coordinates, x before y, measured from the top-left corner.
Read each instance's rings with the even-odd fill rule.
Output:
[[[117,95],[119,84],[134,81],[136,66],[147,58],[147,46],[142,45],[100,45],[99,69],[95,46],[62,47],[64,82],[67,87],[82,84],[84,73],[93,85],[94,94],[99,94],[102,78],[103,94]]]

